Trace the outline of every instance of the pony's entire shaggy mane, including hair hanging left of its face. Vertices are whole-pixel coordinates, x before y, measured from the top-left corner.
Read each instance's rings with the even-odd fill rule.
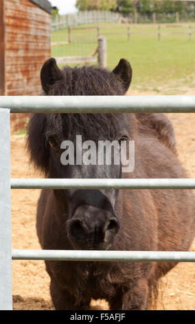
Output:
[[[125,85],[114,72],[95,68],[65,67],[60,70],[60,79],[47,85],[47,93],[43,96],[100,96],[124,95]],[[49,78],[49,77],[48,77]],[[126,120],[128,119],[128,121]],[[45,175],[49,172],[49,148],[46,141],[48,133],[57,134],[59,139],[66,139],[67,134],[76,136],[82,134],[83,140],[91,141],[115,139],[117,130],[121,128],[122,120],[129,125],[130,138],[137,131],[137,122],[133,114],[32,114],[27,126],[27,148],[30,160],[36,168]]]

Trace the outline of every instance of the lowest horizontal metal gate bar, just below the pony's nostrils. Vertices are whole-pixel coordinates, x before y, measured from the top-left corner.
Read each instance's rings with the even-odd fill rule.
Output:
[[[13,260],[195,262],[195,252],[12,250]]]

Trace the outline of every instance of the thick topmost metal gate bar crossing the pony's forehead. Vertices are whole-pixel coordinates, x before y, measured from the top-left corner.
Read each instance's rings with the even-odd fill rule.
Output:
[[[195,112],[195,96],[3,96],[11,112]]]

